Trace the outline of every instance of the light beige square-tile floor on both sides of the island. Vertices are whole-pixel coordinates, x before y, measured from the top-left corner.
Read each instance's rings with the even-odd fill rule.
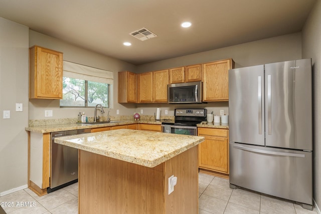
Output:
[[[3,208],[8,214],[78,213],[78,183],[74,183],[42,197],[39,197],[29,188],[26,188],[0,197],[0,202],[7,202],[3,204],[5,205]],[[8,202],[13,202],[13,206],[9,206]],[[23,204],[21,202],[23,202]],[[312,211],[307,210],[291,201],[244,189],[231,189],[228,179],[200,173],[199,214],[216,213],[317,214],[315,209]]]

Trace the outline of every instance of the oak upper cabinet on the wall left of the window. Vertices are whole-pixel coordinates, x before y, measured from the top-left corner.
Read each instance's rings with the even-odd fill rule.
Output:
[[[63,53],[33,46],[29,57],[29,98],[62,99]]]

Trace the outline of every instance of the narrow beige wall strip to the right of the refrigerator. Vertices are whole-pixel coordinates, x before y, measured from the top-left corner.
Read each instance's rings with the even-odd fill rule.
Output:
[[[313,198],[321,208],[321,2],[316,1],[302,31],[302,57],[312,58]]]

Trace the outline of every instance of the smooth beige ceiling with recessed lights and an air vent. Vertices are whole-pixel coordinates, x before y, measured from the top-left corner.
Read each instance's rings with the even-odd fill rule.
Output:
[[[300,32],[315,1],[0,0],[0,17],[140,65]],[[184,21],[192,27],[181,28]],[[141,28],[157,37],[129,35]]]

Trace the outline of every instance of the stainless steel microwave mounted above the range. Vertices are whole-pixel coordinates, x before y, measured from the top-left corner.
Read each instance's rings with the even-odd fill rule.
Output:
[[[202,103],[201,81],[168,85],[168,103]]]

